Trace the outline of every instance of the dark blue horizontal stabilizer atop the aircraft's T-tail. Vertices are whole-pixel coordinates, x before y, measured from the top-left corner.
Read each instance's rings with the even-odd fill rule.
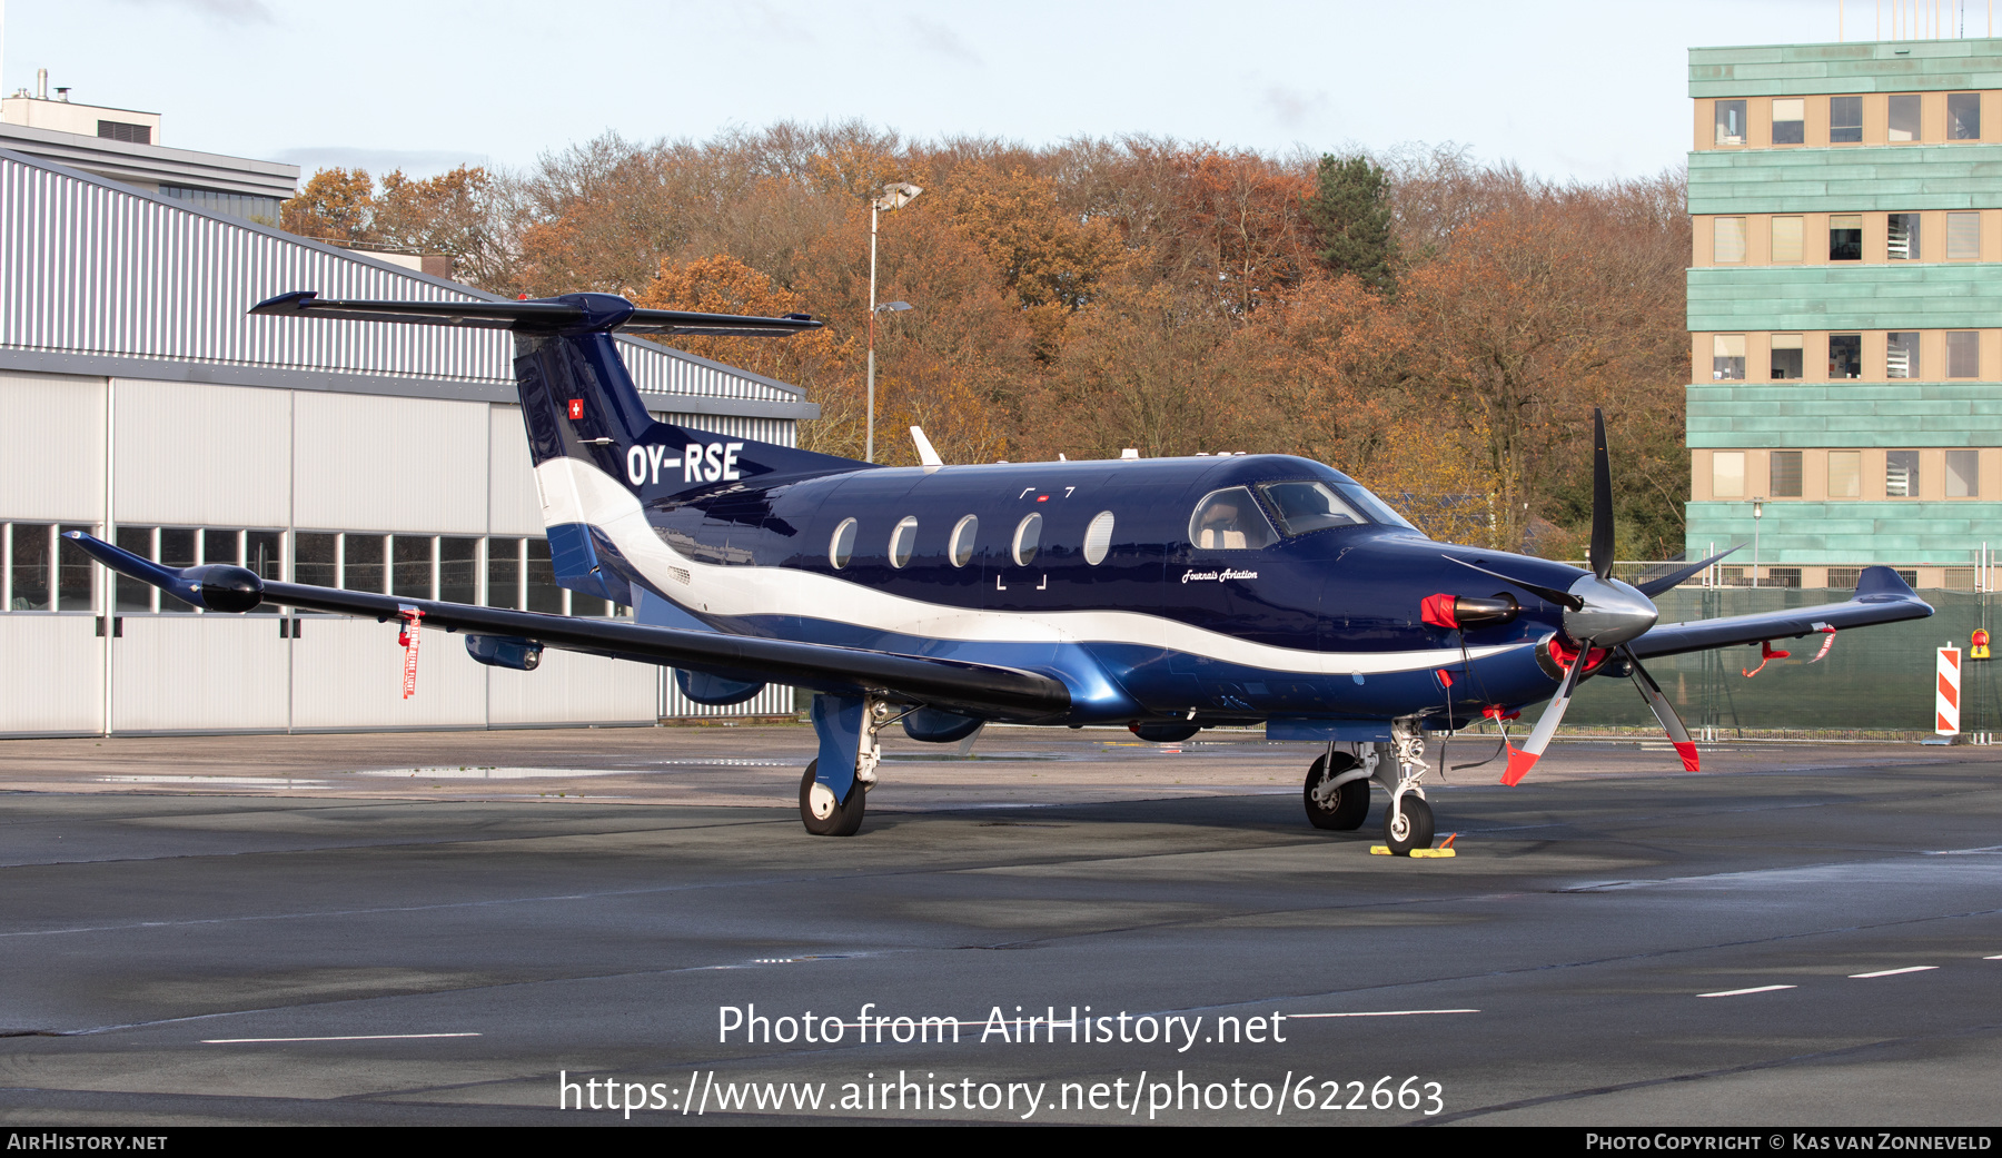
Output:
[[[312,291],[294,291],[260,301],[250,307],[250,313],[264,317],[312,317],[551,335],[621,331],[651,335],[787,337],[801,331],[817,331],[823,325],[807,315],[763,319],[743,315],[699,315],[689,311],[643,311],[617,295],[563,295],[557,299],[517,303],[376,303],[328,301]]]

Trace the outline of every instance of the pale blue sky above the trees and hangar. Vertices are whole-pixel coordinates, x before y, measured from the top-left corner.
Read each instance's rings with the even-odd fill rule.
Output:
[[[1910,0],[1908,0],[1910,2]],[[1684,162],[1690,46],[1874,38],[1876,0],[0,0],[0,90],[160,112],[160,144],[426,176],[607,130],[861,118],[1029,146],[1453,144],[1554,180]],[[1988,34],[1992,0],[1942,0]],[[571,16],[573,12],[589,14]]]

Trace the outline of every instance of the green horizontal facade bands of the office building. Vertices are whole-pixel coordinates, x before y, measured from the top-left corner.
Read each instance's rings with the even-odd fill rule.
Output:
[[[1982,126],[1980,140],[1934,142],[1928,136],[1924,142],[1864,144],[1852,136],[1858,142],[1830,144],[1826,138],[1832,116],[1828,96],[1876,94],[1882,108],[1884,94],[1980,92],[1992,98],[1996,90],[2002,90],[2002,38],[1692,48],[1692,100],[1746,100],[1748,108],[1766,108],[1760,102],[1802,96],[1820,110],[1824,140],[1778,146],[1748,134],[1742,146],[1690,152],[1690,212],[1896,214],[2002,208],[2002,124]],[[1708,108],[1698,104],[1700,126],[1708,124]],[[1996,106],[1990,102],[1986,108]],[[1884,140],[1882,128],[1876,140]],[[1816,226],[1810,224],[1812,228]],[[1820,228],[1826,230],[1828,222],[1822,220]],[[1826,244],[1828,234],[1810,232],[1808,248],[1818,242]],[[1688,274],[1688,329],[1696,335],[1998,331],[2002,264],[1886,262],[1882,256],[1874,264],[1700,264]],[[1810,357],[1818,357],[1810,341]],[[1826,353],[1826,345],[1822,351]],[[1704,353],[1696,351],[1698,357]],[[1994,361],[1982,365],[1992,367]],[[1942,369],[1932,363],[1926,373],[1940,377]],[[1812,377],[1818,375],[1810,373]],[[1688,447],[1692,453],[1994,449],[2002,447],[2002,383],[1696,381],[1688,387]],[[1882,453],[1874,461],[1882,463]],[[1880,465],[1878,471],[1882,469]],[[2002,477],[1988,475],[1992,471],[1980,479],[1974,499],[1870,499],[1864,491],[1866,497],[1860,499],[1818,499],[1810,493],[1804,499],[1768,501],[1756,527],[1760,563],[1970,567],[1982,543],[2002,547]],[[1748,477],[1744,491],[1744,499],[1688,505],[1692,559],[1710,545],[1722,549],[1752,541],[1752,497],[1766,495],[1766,479]],[[1878,495],[1882,493],[1884,481],[1878,479]],[[1730,563],[1752,563],[1750,555],[1746,549]]]

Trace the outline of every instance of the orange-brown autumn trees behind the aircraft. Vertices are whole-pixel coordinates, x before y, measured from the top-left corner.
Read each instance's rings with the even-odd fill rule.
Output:
[[[911,425],[947,461],[1307,455],[1439,539],[1578,557],[1598,405],[1620,557],[1682,549],[1680,174],[1560,186],[1451,150],[779,124],[380,190],[322,170],[284,222],[452,252],[509,297],[821,317],[811,337],[677,347],[807,387],[821,417],[801,443],[861,457],[869,196],[889,180],[925,194],[879,224],[877,299],[915,307],[877,325],[879,461],[915,461]]]

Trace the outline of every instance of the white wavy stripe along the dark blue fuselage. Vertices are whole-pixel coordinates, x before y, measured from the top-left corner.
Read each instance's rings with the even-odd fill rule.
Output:
[[[923,639],[963,643],[1131,643],[1167,647],[1263,671],[1307,675],[1385,675],[1425,671],[1461,661],[1457,647],[1425,651],[1301,651],[1271,647],[1139,611],[983,611],[947,607],[877,591],[861,583],[793,567],[701,563],[675,551],[647,523],[639,499],[623,483],[581,459],[549,459],[535,469],[549,527],[589,523],[619,547],[655,591],[695,613],[751,617],[795,615],[851,623]],[[689,573],[683,585],[671,569]],[[1473,647],[1473,659],[1526,643]]]

